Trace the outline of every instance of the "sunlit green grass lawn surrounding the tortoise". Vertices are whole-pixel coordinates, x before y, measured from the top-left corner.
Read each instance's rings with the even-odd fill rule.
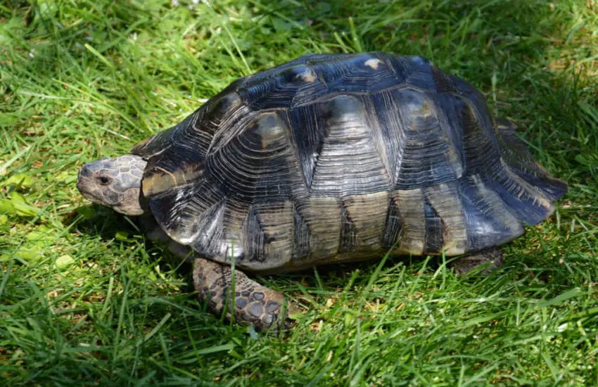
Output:
[[[6,386],[598,384],[596,1],[178,2],[0,5]],[[256,335],[210,315],[189,266],[75,189],[83,163],[236,77],[372,50],[469,80],[570,184],[491,277],[415,258],[265,277],[305,314],[284,338]]]

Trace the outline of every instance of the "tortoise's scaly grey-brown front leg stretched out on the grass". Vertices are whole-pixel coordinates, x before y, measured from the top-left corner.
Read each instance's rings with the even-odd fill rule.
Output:
[[[200,300],[208,302],[210,310],[221,315],[224,304],[231,300],[232,270],[228,265],[221,265],[204,258],[193,261],[193,284]],[[296,309],[292,305],[284,305],[284,296],[272,289],[258,284],[239,270],[235,271],[235,294],[232,306],[236,322],[253,324],[255,330],[286,329],[293,325],[288,317],[289,312]],[[229,301],[231,303],[231,301]],[[284,318],[281,313],[284,310]],[[227,317],[231,318],[231,310],[227,310]]]

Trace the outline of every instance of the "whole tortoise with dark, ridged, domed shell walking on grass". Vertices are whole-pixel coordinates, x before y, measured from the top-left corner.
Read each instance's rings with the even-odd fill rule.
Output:
[[[500,246],[567,191],[515,131],[425,58],[311,54],[238,78],[129,155],[85,164],[77,188],[191,257],[212,312],[284,328],[295,307],[246,273],[387,252],[463,256],[457,274],[502,265]]]

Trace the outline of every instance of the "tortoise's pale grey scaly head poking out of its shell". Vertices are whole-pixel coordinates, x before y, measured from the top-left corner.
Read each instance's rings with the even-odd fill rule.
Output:
[[[147,162],[134,155],[101,158],[79,170],[77,189],[90,201],[125,215],[141,215],[141,178]]]

